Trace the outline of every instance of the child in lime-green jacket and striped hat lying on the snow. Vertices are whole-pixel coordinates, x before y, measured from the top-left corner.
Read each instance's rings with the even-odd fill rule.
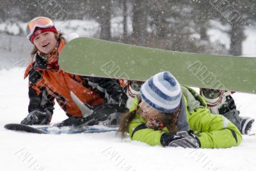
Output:
[[[180,86],[164,71],[149,78],[124,114],[119,131],[150,145],[226,148],[241,143],[237,127],[223,115],[211,114],[193,89]]]

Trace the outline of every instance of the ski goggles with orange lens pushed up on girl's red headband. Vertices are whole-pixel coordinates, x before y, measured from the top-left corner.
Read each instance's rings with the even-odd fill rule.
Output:
[[[52,22],[51,19],[48,19],[47,17],[36,17],[35,19],[31,20],[26,27],[27,38],[30,40],[36,27],[46,29],[53,26],[54,26],[54,23]]]

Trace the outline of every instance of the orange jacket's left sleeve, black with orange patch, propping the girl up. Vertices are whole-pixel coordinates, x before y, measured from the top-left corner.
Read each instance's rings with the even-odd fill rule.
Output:
[[[31,69],[29,71],[29,106],[28,112],[40,110],[45,112],[49,110],[53,113],[54,98],[47,92],[47,87],[44,85],[42,74],[40,71]]]

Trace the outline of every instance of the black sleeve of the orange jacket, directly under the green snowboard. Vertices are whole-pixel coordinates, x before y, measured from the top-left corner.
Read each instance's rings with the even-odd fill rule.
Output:
[[[86,87],[92,87],[102,98],[106,98],[108,103],[126,104],[128,98],[118,80],[84,76],[82,78],[85,80]]]

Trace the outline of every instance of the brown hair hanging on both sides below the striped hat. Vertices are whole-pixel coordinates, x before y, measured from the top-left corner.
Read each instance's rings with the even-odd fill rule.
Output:
[[[140,101],[139,101],[139,103],[140,103]],[[181,103],[180,103],[179,107],[175,110],[175,112],[164,114],[163,126],[166,127],[170,133],[177,132],[176,126],[177,126],[178,119],[179,119],[180,107],[181,107]],[[125,113],[122,116],[122,118],[120,119],[120,126],[118,129],[118,133],[120,133],[121,138],[125,138],[125,135],[126,135],[125,133],[128,130],[129,123],[131,123],[132,119],[135,118],[138,108],[139,108],[139,106],[137,106],[136,109],[133,110],[132,112]]]

